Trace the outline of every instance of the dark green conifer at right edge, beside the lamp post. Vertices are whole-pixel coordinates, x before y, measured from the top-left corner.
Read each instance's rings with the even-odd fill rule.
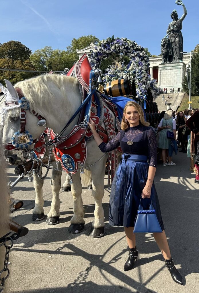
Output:
[[[183,91],[188,93],[189,89],[186,76],[184,76],[184,84],[182,86]],[[191,95],[199,96],[199,52],[195,53],[191,58]]]

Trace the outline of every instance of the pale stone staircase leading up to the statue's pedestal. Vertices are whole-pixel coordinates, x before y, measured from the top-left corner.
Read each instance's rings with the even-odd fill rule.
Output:
[[[167,99],[167,96],[170,96],[170,99]],[[167,103],[171,103],[171,109],[173,111],[176,111],[178,106],[180,106],[182,99],[184,97],[185,93],[165,93],[164,94],[164,99],[167,100]],[[160,113],[162,111],[166,110],[166,105],[165,102],[163,102],[162,100],[162,94],[155,96],[154,98],[154,102],[156,102],[156,104],[158,105],[158,110],[160,111]]]

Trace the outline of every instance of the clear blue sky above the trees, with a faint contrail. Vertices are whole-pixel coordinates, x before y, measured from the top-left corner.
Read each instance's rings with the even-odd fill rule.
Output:
[[[184,51],[199,43],[198,0],[184,0]],[[0,43],[18,40],[34,52],[44,46],[65,50],[72,38],[114,35],[135,40],[151,54],[160,54],[170,14],[183,7],[175,0],[1,0]]]

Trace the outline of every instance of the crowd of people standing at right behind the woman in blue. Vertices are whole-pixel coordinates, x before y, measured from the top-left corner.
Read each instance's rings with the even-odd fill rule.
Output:
[[[195,115],[194,115],[195,113]],[[199,183],[197,178],[197,154],[199,152],[199,136],[197,133],[197,121],[199,121],[198,109],[185,109],[176,113],[171,109],[162,111],[157,123],[157,145],[161,152],[163,166],[175,166],[172,161],[173,151],[186,153],[190,158],[190,171],[196,172],[195,183]],[[195,132],[194,132],[195,131]],[[171,137],[169,132],[171,132]],[[196,158],[196,164],[194,164]]]

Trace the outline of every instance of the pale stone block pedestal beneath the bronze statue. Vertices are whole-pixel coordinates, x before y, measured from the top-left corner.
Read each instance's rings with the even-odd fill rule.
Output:
[[[159,65],[158,84],[160,88],[174,88],[177,92],[178,88],[182,88],[183,77],[185,75],[186,65],[183,62],[164,63]]]

